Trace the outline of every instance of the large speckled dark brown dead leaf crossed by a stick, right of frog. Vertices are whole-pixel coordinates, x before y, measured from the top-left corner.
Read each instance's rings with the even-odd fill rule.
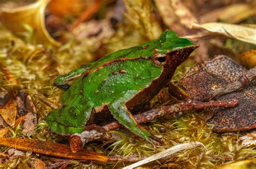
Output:
[[[232,59],[220,55],[213,60],[203,61],[188,71],[183,80],[183,87],[191,97],[204,100],[216,88],[237,81],[247,72]],[[239,131],[256,128],[256,87],[255,81],[240,91],[220,96],[217,100],[238,99],[234,108],[212,108],[207,120],[214,124],[216,131]]]

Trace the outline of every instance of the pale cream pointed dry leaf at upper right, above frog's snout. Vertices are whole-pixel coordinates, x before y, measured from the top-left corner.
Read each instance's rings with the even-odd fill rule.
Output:
[[[253,27],[212,22],[201,25],[194,23],[193,28],[204,29],[211,33],[218,33],[229,38],[238,39],[245,41],[246,43],[256,45],[256,29]],[[187,36],[186,38],[191,37],[192,36]]]

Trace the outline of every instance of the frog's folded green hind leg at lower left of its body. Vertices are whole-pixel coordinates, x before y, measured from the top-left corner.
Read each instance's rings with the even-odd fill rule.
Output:
[[[51,110],[46,117],[46,122],[51,131],[72,135],[85,130],[91,114],[94,112],[92,104],[82,95],[75,95],[67,100],[61,108]]]

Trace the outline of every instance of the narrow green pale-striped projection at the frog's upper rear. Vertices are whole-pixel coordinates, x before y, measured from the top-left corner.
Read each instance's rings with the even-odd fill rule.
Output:
[[[76,69],[73,69],[67,74],[58,76],[53,81],[53,86],[57,86],[59,89],[62,90],[68,90],[70,85],[68,85],[68,82],[72,80],[76,80],[79,78],[80,75],[82,75],[84,72],[86,72],[93,63],[87,64],[87,65],[81,65]]]

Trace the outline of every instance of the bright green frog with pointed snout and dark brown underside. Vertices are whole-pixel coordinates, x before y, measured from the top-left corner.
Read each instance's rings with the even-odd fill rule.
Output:
[[[93,114],[107,110],[126,129],[152,143],[152,134],[135,121],[129,108],[149,101],[165,87],[177,66],[197,47],[166,30],[156,40],[58,76],[54,85],[67,90],[63,106],[46,117],[50,130],[63,135],[81,133]],[[71,80],[75,81],[72,86],[67,85]]]

